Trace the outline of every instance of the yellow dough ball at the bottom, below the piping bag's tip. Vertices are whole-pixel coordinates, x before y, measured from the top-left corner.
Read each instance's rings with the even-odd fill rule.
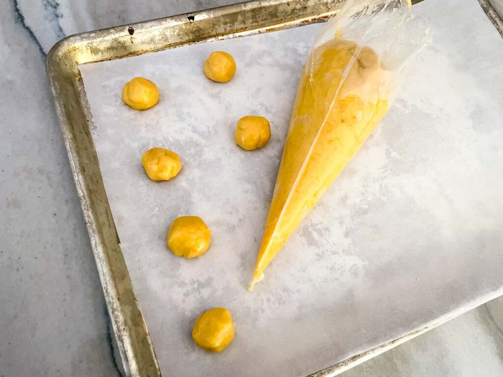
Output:
[[[212,352],[220,352],[234,338],[234,323],[225,308],[210,309],[199,316],[192,339],[199,347]]]

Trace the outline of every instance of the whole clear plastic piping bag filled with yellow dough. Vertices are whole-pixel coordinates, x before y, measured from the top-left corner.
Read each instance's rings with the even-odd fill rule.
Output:
[[[348,0],[318,35],[297,90],[248,291],[387,113],[428,35],[407,0]]]

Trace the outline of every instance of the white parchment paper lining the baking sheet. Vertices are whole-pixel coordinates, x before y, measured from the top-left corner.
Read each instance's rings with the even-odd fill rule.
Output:
[[[121,248],[166,375],[304,375],[470,309],[503,279],[503,43],[476,1],[425,1],[432,42],[394,106],[266,271],[253,272],[298,78],[321,25],[81,66]],[[459,42],[459,35],[465,36]],[[213,83],[202,64],[230,52],[238,71]],[[137,112],[124,82],[152,79],[161,99]],[[434,89],[432,89],[434,87]],[[233,142],[244,115],[272,139]],[[176,179],[152,182],[143,151],[178,152]],[[165,246],[171,222],[201,216],[210,250]],[[201,311],[231,310],[236,337],[199,350]]]

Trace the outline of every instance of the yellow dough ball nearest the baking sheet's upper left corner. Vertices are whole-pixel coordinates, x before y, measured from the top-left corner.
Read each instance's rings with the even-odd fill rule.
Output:
[[[159,88],[152,81],[135,77],[122,88],[122,101],[136,110],[146,110],[159,101]]]

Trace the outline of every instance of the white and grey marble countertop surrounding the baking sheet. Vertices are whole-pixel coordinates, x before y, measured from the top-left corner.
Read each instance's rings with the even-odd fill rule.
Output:
[[[120,375],[47,86],[48,49],[76,32],[229,3],[1,0],[0,375]],[[499,376],[502,322],[498,299],[345,374]]]

